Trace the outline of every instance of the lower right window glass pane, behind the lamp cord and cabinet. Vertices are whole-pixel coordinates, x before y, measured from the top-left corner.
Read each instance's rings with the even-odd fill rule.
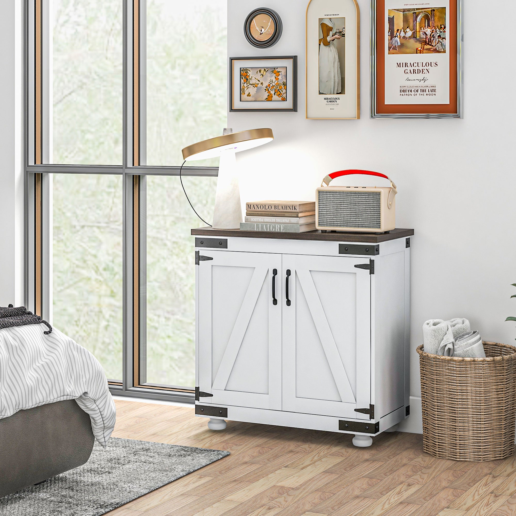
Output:
[[[217,178],[187,177],[191,203],[213,218]],[[147,177],[147,383],[195,386],[195,238],[201,222],[178,176]]]

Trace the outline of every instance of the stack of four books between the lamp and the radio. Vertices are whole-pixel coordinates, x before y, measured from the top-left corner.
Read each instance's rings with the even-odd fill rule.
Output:
[[[240,231],[304,233],[314,230],[314,201],[246,202],[246,219],[240,222]]]

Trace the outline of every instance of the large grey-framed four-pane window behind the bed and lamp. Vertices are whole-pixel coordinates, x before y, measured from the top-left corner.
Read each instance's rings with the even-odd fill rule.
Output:
[[[113,391],[192,399],[204,223],[181,149],[227,125],[227,0],[26,1],[26,303]],[[182,170],[208,221],[217,166]]]

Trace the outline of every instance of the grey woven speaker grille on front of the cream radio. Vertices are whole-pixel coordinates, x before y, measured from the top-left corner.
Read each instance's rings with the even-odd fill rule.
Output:
[[[381,228],[381,192],[319,190],[319,226]]]

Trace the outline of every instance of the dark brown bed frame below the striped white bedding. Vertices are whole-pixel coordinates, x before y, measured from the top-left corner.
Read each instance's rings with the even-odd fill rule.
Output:
[[[73,399],[0,420],[0,496],[84,464],[93,449],[90,416]]]

